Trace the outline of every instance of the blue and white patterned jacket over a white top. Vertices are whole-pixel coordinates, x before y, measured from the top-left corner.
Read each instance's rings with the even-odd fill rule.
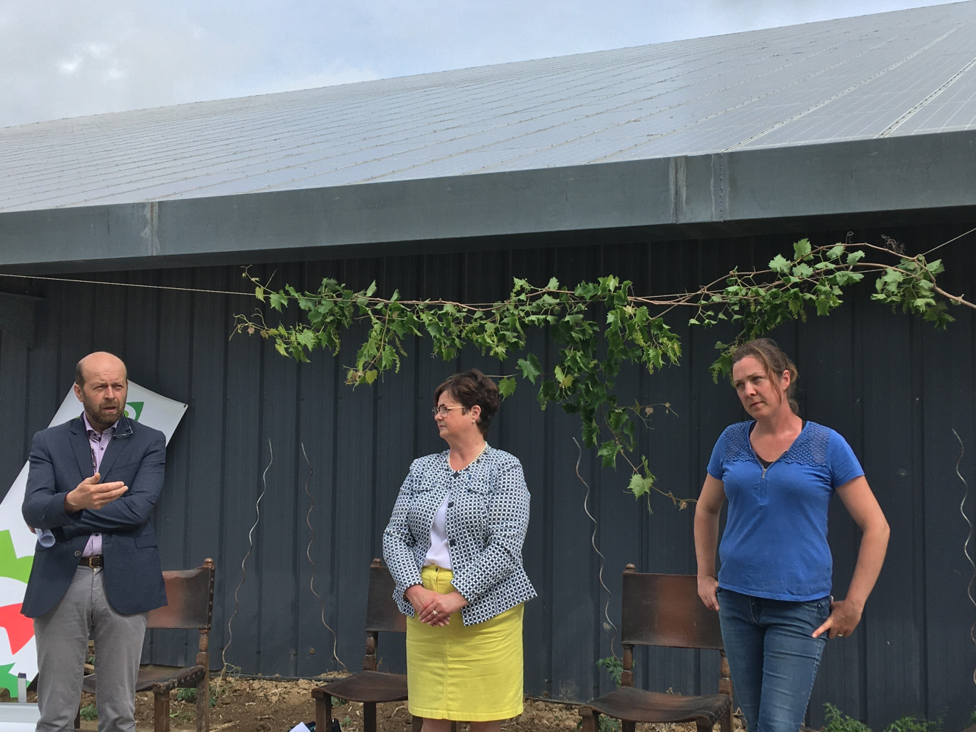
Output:
[[[448,451],[418,458],[400,486],[383,534],[383,556],[396,583],[393,599],[404,615],[414,609],[403,593],[420,585],[430,549],[434,514],[447,504],[451,584],[468,600],[466,626],[483,623],[536,596],[522,568],[529,525],[529,491],[522,465],[503,450],[486,447],[463,470],[452,470]]]

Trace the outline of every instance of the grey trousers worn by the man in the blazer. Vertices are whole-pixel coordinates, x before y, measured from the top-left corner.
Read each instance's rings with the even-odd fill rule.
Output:
[[[135,732],[145,619],[146,613],[115,612],[105,596],[102,569],[78,567],[61,601],[34,619],[37,732],[73,732],[89,637],[95,641],[99,732]]]

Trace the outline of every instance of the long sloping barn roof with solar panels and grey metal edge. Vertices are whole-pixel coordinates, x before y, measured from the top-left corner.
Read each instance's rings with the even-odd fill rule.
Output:
[[[0,265],[970,207],[973,37],[976,0],[3,128]]]

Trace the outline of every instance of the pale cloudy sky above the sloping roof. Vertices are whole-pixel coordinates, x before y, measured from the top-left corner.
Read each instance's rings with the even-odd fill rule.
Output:
[[[943,0],[0,0],[0,127]]]

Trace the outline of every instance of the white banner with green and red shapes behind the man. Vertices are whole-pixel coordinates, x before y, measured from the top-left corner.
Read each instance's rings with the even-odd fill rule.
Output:
[[[160,396],[129,382],[126,415],[162,431],[166,435],[167,444],[185,411],[186,405],[182,402]],[[81,412],[81,402],[74,395],[72,387],[49,427],[72,420]],[[33,621],[20,615],[20,602],[27,588],[36,541],[20,513],[26,485],[27,465],[24,464],[7,496],[0,503],[0,630],[6,630],[7,633],[7,642],[4,642],[3,633],[0,632],[0,687],[6,687],[11,697],[16,697],[18,693],[18,673],[25,674],[28,682],[37,675]]]

